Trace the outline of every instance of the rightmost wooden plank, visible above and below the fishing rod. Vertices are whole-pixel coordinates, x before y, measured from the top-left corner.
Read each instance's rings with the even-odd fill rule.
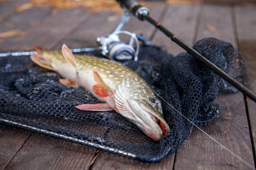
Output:
[[[256,92],[256,8],[250,6],[236,6],[237,41],[240,52],[244,55],[248,65],[249,80],[247,87]],[[256,145],[256,103],[246,99],[248,106],[248,122],[252,143]],[[255,147],[253,152],[256,155]]]

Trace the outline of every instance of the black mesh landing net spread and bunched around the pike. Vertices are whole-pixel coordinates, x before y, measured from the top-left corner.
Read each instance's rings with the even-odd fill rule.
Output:
[[[230,43],[206,38],[194,48],[245,84],[246,62]],[[90,54],[102,57],[100,52]],[[82,88],[61,85],[60,75],[36,66],[29,57],[0,58],[0,122],[157,162],[191,134],[193,125],[180,113],[198,126],[208,125],[220,115],[220,106],[213,103],[219,91],[237,91],[189,53],[173,57],[156,46],[144,46],[139,56],[137,62],[124,64],[175,108],[161,101],[170,131],[160,142],[115,111],[77,110],[78,104],[99,101]]]

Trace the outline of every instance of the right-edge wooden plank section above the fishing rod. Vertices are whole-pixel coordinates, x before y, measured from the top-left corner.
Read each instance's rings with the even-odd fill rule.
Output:
[[[256,7],[237,6],[235,14],[239,50],[248,65],[247,87],[256,92]]]

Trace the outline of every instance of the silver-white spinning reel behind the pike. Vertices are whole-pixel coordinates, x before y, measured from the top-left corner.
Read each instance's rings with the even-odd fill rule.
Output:
[[[115,31],[108,36],[99,36],[97,43],[102,50],[102,54],[111,60],[118,60],[120,62],[125,60],[138,60],[138,53],[140,50],[140,41],[143,45],[150,45],[150,40],[142,35],[137,35],[129,31],[122,31],[122,28],[129,21],[131,13],[124,11],[120,23],[117,25]],[[120,34],[125,34],[130,37],[129,43],[120,40]]]

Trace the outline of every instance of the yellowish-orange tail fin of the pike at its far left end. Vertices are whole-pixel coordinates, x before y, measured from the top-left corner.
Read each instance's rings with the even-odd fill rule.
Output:
[[[53,70],[52,67],[49,66],[49,63],[47,62],[44,55],[42,55],[42,52],[39,50],[39,48],[37,46],[33,46],[33,48],[36,50],[36,53],[32,53],[30,55],[30,59],[39,66],[44,67],[45,69]]]

